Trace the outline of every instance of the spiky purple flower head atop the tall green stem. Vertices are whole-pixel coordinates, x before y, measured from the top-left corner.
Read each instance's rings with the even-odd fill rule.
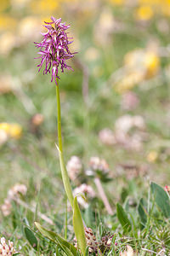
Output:
[[[55,80],[57,84],[57,79],[59,79],[59,67],[63,73],[65,68],[71,69],[70,66],[66,64],[66,60],[71,59],[75,53],[71,53],[69,50],[69,44],[73,41],[70,41],[72,38],[68,38],[67,32],[65,32],[70,25],[66,26],[65,23],[61,23],[61,18],[55,20],[54,17],[51,17],[52,22],[45,22],[45,26],[48,29],[48,32],[42,33],[42,42],[35,43],[36,47],[39,49],[38,54],[40,57],[37,59],[42,59],[38,72],[42,68],[42,64],[45,63],[45,69],[43,74],[51,73],[52,70],[52,79]]]

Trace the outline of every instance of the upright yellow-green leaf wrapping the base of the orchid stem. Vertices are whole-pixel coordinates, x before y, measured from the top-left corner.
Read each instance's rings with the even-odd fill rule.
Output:
[[[77,196],[74,198],[73,205],[73,226],[77,237],[78,247],[80,247],[82,254],[86,255],[86,237],[84,233],[84,225],[82,223],[82,215],[77,203]]]

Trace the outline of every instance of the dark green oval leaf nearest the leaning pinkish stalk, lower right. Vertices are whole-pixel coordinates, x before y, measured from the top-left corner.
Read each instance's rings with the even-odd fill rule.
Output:
[[[122,206],[119,203],[116,204],[116,214],[117,214],[117,218],[122,224],[123,230],[125,232],[131,230],[132,225],[129,219],[127,218],[127,213],[123,210]]]

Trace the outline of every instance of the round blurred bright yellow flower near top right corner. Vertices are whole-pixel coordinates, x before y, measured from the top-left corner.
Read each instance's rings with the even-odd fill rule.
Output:
[[[136,11],[137,20],[150,20],[153,15],[154,12],[149,5],[140,6]]]

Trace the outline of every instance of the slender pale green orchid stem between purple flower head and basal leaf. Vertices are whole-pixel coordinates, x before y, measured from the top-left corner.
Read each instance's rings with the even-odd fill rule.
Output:
[[[65,168],[65,162],[63,157],[63,145],[62,145],[62,137],[61,137],[61,114],[60,114],[60,98],[59,98],[59,85],[56,85],[56,98],[57,98],[57,118],[58,118],[58,139],[59,139],[59,165],[61,168],[61,175],[65,187],[65,193],[67,195],[68,200],[71,203],[71,207],[73,208],[74,197],[72,195],[71,183],[68,176],[68,173]]]

